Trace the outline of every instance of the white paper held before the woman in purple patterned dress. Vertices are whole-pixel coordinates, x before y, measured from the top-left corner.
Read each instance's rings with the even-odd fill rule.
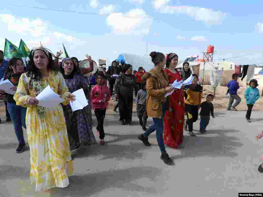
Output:
[[[88,105],[88,100],[84,94],[83,89],[79,89],[72,94],[76,96],[75,101],[70,101],[70,107],[72,108],[72,111],[82,110]]]

